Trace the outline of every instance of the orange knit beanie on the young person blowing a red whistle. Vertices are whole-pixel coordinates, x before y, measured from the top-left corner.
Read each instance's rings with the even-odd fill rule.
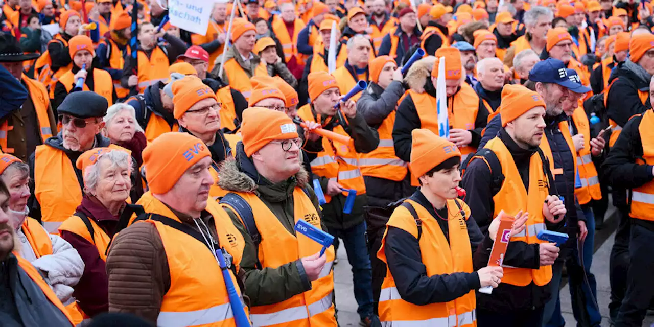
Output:
[[[409,169],[421,177],[445,160],[461,157],[458,147],[426,128],[411,131],[411,162]]]

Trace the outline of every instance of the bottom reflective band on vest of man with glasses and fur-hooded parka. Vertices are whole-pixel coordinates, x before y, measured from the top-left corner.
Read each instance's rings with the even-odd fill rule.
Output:
[[[332,306],[332,293],[324,298],[311,303],[307,306],[300,305],[277,311],[276,313],[259,313],[250,314],[252,326],[272,326],[276,324],[285,324],[294,320],[306,319],[323,313]]]

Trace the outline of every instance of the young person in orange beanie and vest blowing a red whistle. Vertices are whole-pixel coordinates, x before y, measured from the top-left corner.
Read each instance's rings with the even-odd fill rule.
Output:
[[[504,274],[500,266],[487,266],[488,254],[474,260],[473,254],[481,243],[492,247],[500,219],[484,237],[468,205],[457,199],[458,147],[429,129],[411,134],[409,167],[421,187],[390,216],[377,252],[388,264],[379,319],[389,326],[477,326],[475,290],[497,287]],[[511,235],[525,229],[527,216],[516,218]]]

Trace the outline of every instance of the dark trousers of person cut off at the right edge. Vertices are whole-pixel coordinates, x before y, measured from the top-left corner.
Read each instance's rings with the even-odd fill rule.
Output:
[[[638,224],[631,225],[629,241],[630,266],[627,274],[627,293],[615,320],[615,327],[640,327],[649,303],[654,299],[654,231]]]

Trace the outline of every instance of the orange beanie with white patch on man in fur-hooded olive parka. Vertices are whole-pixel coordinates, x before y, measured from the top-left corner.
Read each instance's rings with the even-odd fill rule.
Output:
[[[248,158],[270,141],[300,137],[298,126],[284,112],[261,107],[252,107],[243,111],[241,135],[243,135],[243,150]]]

